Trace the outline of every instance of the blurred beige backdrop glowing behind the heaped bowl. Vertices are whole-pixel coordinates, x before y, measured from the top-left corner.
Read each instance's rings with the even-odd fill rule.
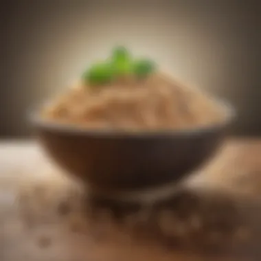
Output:
[[[0,137],[30,135],[26,110],[116,44],[230,100],[235,134],[261,134],[258,1],[11,0],[1,13]]]

